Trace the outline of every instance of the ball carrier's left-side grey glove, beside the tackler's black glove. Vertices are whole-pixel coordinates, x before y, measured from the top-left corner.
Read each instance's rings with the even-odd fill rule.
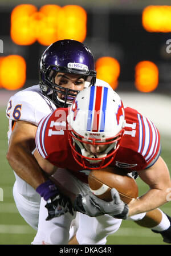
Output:
[[[90,217],[103,215],[104,213],[101,212],[98,205],[94,204],[91,197],[94,197],[91,192],[87,193],[86,195],[79,194],[76,196],[73,206],[75,212],[84,213]]]

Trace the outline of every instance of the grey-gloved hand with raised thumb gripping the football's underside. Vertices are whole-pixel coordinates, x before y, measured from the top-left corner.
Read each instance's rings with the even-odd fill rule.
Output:
[[[111,189],[112,201],[107,202],[96,196],[91,196],[91,204],[94,204],[104,214],[109,214],[114,218],[126,219],[128,217],[129,208],[119,196],[115,188]]]

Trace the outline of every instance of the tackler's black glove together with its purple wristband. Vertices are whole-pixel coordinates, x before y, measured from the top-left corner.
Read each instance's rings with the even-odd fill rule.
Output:
[[[51,180],[47,180],[40,184],[38,188],[36,188],[36,192],[38,192],[40,196],[47,201],[45,206],[48,211],[48,216],[46,218],[47,221],[54,217],[59,217],[67,212],[74,215],[70,198],[60,193],[59,189]]]

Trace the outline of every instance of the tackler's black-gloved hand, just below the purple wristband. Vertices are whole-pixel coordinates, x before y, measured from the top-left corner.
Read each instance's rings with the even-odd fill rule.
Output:
[[[48,199],[45,207],[48,211],[46,221],[49,221],[54,217],[60,217],[67,212],[70,212],[71,215],[74,215],[70,199],[61,194]]]

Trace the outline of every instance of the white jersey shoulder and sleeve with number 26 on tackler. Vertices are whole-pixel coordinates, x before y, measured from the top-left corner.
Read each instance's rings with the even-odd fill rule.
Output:
[[[10,97],[6,116],[10,119],[8,137],[10,139],[15,121],[27,121],[38,126],[39,121],[56,109],[40,91],[39,85],[28,87]]]

